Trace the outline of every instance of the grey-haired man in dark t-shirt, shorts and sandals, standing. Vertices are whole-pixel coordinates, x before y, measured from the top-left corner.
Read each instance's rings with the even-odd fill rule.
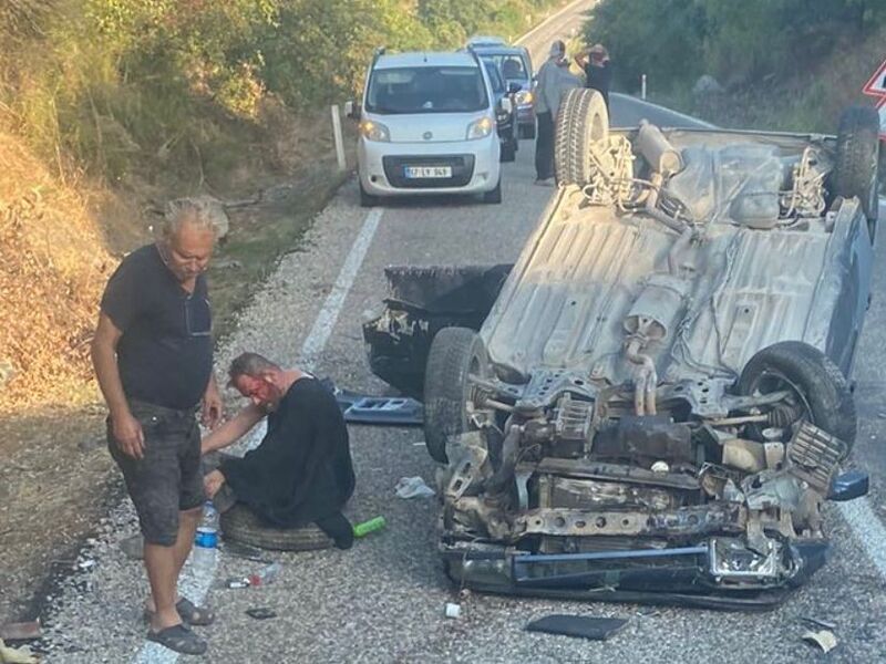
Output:
[[[176,587],[205,500],[195,411],[202,403],[209,427],[222,416],[204,274],[216,237],[200,200],[171,203],[156,243],[130,253],[107,282],[92,342],[109,448],[145,540],[147,639],[186,654],[206,652],[188,625],[214,619]]]

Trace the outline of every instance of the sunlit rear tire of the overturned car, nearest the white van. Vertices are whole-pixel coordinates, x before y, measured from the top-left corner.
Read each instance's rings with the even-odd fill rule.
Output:
[[[566,93],[554,129],[554,173],[562,186],[590,181],[591,152],[609,141],[609,114],[596,90],[576,87]]]

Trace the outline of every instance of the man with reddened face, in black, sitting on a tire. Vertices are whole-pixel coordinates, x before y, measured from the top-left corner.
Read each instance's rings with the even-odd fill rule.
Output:
[[[266,416],[268,427],[256,449],[225,459],[204,478],[206,495],[213,498],[227,486],[269,525],[313,522],[337,547],[350,548],[353,528],[341,509],[353,494],[354,474],[334,395],[312,375],[282,370],[257,353],[234,360],[228,373],[251,403],[204,438],[203,453],[227,447]]]

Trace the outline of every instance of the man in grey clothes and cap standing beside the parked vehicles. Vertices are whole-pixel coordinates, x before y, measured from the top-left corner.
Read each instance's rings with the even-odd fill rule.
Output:
[[[579,87],[581,81],[569,73],[566,44],[557,40],[550,44],[550,56],[538,70],[535,111],[538,134],[535,141],[535,184],[554,185],[554,126],[560,100],[567,90]]]

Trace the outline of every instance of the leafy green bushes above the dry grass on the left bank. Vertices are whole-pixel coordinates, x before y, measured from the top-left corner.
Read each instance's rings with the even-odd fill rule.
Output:
[[[236,162],[237,136],[260,128],[269,95],[316,112],[359,90],[379,45],[515,35],[555,3],[0,0],[0,110],[7,128],[60,167],[174,180],[197,155],[220,160],[214,172]]]

